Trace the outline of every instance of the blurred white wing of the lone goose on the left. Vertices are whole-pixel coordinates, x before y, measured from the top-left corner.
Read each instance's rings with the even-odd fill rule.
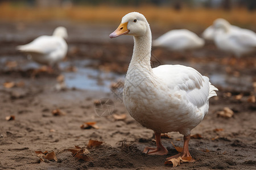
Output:
[[[61,46],[63,45],[60,37],[40,36],[26,45],[17,46],[17,49],[22,52],[49,54],[58,50]]]

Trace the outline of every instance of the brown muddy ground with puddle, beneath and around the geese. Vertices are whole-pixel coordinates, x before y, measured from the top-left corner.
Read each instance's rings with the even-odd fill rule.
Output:
[[[69,52],[60,70],[40,71],[38,65],[15,51],[38,35],[50,35],[58,25],[68,28]],[[117,24],[95,25],[70,22],[1,23],[0,27],[0,169],[169,169],[165,158],[177,154],[171,142],[183,145],[178,133],[168,133],[163,145],[169,153],[164,156],[144,155],[145,146],[155,146],[152,130],[143,128],[127,113],[119,91],[111,91],[104,73],[124,78],[133,50],[131,37],[110,40],[108,35]],[[151,25],[153,38],[167,30]],[[195,31],[200,33],[204,28]],[[254,30],[255,31],[255,30]],[[255,53],[236,59],[220,52],[212,42],[193,52],[174,53],[162,48],[152,49],[153,66],[180,63],[192,66],[208,75],[216,86],[218,97],[210,99],[208,116],[191,134],[203,138],[191,139],[190,152],[195,163],[184,163],[176,169],[255,169],[256,104],[248,99],[255,95]],[[11,61],[11,62],[10,62]],[[89,61],[86,65],[81,61]],[[80,65],[79,65],[80,63]],[[32,65],[32,66],[31,66]],[[88,67],[98,71],[86,75],[77,84],[93,79],[96,84],[56,88],[56,77],[67,73],[68,66],[79,70]],[[91,71],[92,71],[91,70]],[[100,71],[99,71],[100,70]],[[70,71],[70,69],[69,69]],[[74,69],[71,69],[74,71]],[[93,71],[92,71],[93,72]],[[94,73],[94,72],[93,72]],[[87,74],[85,72],[84,74]],[[91,73],[90,73],[91,74]],[[109,82],[122,82],[114,78]],[[6,82],[16,83],[6,88]],[[66,84],[68,84],[68,79]],[[94,86],[94,90],[92,90]],[[103,88],[106,87],[107,88]],[[102,90],[104,89],[104,90]],[[107,89],[107,90],[106,90]],[[238,96],[237,96],[238,95]],[[115,120],[113,114],[103,116],[96,111],[99,99],[113,101],[113,114],[126,114],[125,120]],[[217,116],[224,107],[232,109],[231,118]],[[53,116],[60,109],[63,116]],[[7,121],[6,116],[15,120]],[[81,129],[84,122],[97,122],[98,129]],[[89,139],[104,141],[89,149],[90,160],[78,160],[65,151],[75,145],[86,147]],[[123,143],[123,145],[122,145]],[[54,151],[55,160],[39,163],[35,151]]]

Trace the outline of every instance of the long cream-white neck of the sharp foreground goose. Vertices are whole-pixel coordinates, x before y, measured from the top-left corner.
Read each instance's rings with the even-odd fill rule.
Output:
[[[134,67],[142,67],[152,71],[150,65],[151,41],[150,29],[143,36],[134,36],[133,57],[131,57],[128,71],[134,69]]]

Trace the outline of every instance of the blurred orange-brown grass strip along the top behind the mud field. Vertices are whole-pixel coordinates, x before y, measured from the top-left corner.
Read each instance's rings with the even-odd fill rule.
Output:
[[[0,20],[74,20],[117,23],[131,11],[144,14],[150,22],[168,25],[212,24],[225,18],[241,27],[256,27],[255,0],[0,0]]]

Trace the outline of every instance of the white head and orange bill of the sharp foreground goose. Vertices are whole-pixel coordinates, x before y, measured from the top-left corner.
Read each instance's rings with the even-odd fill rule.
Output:
[[[150,31],[150,26],[144,15],[139,12],[130,12],[123,16],[121,24],[109,37],[114,38],[121,35],[143,36],[148,31]]]

